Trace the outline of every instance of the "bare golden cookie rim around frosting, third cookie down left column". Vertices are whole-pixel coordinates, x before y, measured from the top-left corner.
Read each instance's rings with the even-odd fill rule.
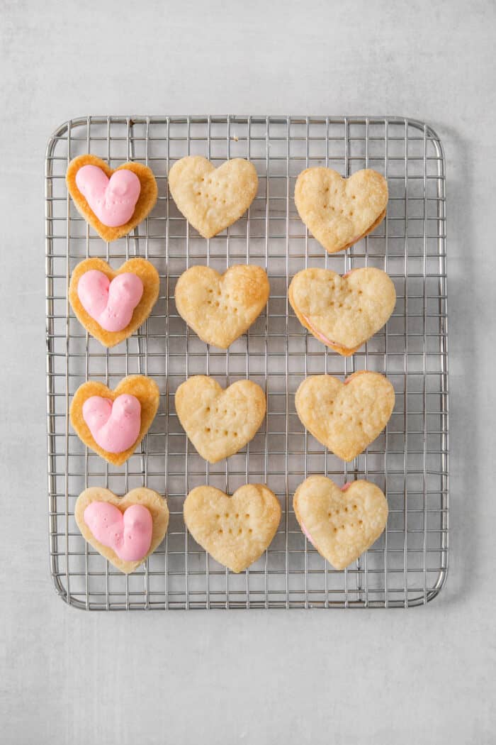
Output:
[[[140,431],[135,443],[133,443],[130,448],[127,448],[121,453],[111,453],[101,448],[95,442],[90,428],[83,417],[83,405],[91,396],[100,396],[102,399],[109,399],[114,402],[115,399],[117,399],[117,396],[123,396],[126,394],[129,396],[135,396],[135,398],[140,402]],[[146,432],[149,430],[158,410],[159,399],[160,393],[158,385],[154,380],[152,380],[152,378],[147,378],[145,375],[128,375],[119,382],[114,390],[110,390],[110,388],[103,383],[87,381],[86,383],[83,383],[83,385],[80,385],[76,393],[74,393],[71,401],[71,409],[69,412],[71,425],[73,426],[77,436],[86,446],[88,446],[88,448],[94,450],[114,466],[121,466],[129,456],[134,453],[139,443],[141,443],[141,440],[143,440]]]

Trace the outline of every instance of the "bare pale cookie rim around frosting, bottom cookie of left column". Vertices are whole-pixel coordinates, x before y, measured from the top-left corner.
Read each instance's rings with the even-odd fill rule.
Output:
[[[146,507],[152,516],[152,542],[146,556],[139,559],[139,561],[123,561],[112,548],[100,543],[94,537],[93,533],[91,533],[84,519],[86,507],[92,502],[109,502],[117,507],[121,513],[124,513],[133,504],[141,504],[143,507]],[[117,497],[114,492],[104,489],[102,486],[91,486],[89,489],[81,492],[77,498],[74,507],[74,519],[77,522],[77,527],[79,527],[83,534],[83,538],[117,569],[123,571],[124,574],[129,574],[129,572],[135,571],[145,561],[146,557],[149,557],[155,551],[155,548],[164,540],[167,525],[169,524],[169,508],[167,507],[167,501],[161,495],[152,491],[152,489],[145,489],[143,486],[138,487],[138,489],[132,489],[123,497]]]

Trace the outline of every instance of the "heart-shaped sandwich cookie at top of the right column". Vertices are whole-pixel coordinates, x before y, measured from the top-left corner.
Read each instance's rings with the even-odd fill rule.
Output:
[[[364,238],[386,216],[387,181],[366,168],[342,178],[332,168],[306,168],[297,177],[298,215],[329,253]]]

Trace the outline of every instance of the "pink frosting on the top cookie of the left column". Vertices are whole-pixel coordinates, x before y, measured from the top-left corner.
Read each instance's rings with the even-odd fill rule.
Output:
[[[129,168],[119,168],[108,178],[97,165],[83,165],[76,185],[100,223],[110,228],[132,218],[141,191],[138,176]]]

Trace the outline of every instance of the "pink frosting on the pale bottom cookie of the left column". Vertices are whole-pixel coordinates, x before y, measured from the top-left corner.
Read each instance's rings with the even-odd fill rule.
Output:
[[[132,504],[121,513],[109,502],[91,502],[84,511],[84,522],[97,541],[112,548],[123,561],[146,557],[152,543],[153,520],[143,504]]]

